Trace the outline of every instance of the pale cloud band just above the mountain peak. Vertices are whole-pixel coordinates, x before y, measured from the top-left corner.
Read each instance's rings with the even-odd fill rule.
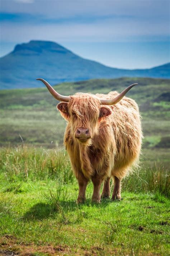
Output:
[[[126,29],[125,29],[126,27]],[[115,20],[112,18],[105,21],[95,21],[93,23],[37,23],[22,24],[5,23],[1,28],[2,41],[19,42],[29,41],[30,39],[41,40],[77,40],[77,41],[135,41],[153,40],[168,36],[168,28],[162,26],[159,21],[155,26],[151,22],[132,19]]]

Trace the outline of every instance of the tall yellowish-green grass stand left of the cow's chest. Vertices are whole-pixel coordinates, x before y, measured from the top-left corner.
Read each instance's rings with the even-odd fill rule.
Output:
[[[74,176],[66,151],[20,146],[0,149],[0,170],[13,181],[58,179],[70,183]]]

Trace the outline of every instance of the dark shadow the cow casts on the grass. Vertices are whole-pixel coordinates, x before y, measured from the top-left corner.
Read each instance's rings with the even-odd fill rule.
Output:
[[[23,216],[25,220],[42,220],[48,218],[55,218],[57,214],[66,215],[68,212],[81,212],[84,206],[105,208],[109,203],[109,199],[103,199],[100,204],[91,202],[87,199],[85,203],[77,204],[76,201],[57,201],[52,203],[37,203],[33,205]],[[84,215],[84,211],[82,211]]]

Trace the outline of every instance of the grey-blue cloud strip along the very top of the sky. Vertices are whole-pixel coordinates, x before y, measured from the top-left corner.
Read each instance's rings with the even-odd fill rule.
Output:
[[[169,0],[1,0],[1,12],[44,14],[48,17],[137,15],[139,18],[168,17]]]

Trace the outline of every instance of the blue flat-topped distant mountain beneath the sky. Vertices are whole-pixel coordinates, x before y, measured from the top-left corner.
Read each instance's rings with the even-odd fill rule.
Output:
[[[55,42],[34,40],[16,45],[0,58],[0,89],[42,87],[38,77],[52,85],[91,78],[170,78],[170,63],[150,69],[110,68],[83,59]]]

